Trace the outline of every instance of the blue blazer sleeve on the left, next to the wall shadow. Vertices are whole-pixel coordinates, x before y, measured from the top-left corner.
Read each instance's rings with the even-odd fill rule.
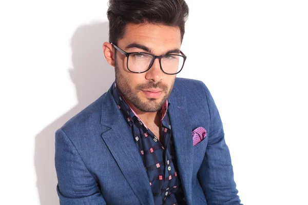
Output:
[[[106,204],[97,181],[62,129],[55,133],[55,169],[61,205]]]

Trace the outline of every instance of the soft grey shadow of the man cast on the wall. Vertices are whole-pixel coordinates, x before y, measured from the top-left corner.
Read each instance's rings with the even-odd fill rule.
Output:
[[[103,43],[108,42],[108,30],[108,22],[82,25],[71,38],[73,68],[68,72],[76,88],[78,104],[35,137],[36,186],[42,205],[59,204],[54,167],[55,131],[105,93],[114,81],[114,69],[103,54]]]

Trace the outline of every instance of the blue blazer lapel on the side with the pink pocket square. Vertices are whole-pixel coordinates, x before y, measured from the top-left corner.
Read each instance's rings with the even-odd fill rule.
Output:
[[[192,135],[187,113],[185,97],[170,95],[168,107],[171,132],[174,138],[176,158],[181,185],[187,204],[191,204],[191,177],[192,177]]]

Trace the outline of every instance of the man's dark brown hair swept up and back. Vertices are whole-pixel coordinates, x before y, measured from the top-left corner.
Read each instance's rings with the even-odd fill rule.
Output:
[[[162,24],[185,33],[188,6],[185,0],[109,0],[109,42],[117,44],[127,24]]]

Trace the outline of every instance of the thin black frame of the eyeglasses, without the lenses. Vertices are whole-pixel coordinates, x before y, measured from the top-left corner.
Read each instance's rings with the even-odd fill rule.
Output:
[[[182,71],[182,69],[183,69],[183,67],[184,67],[184,64],[185,64],[186,57],[187,57],[182,51],[180,51],[182,55],[179,55],[179,54],[153,55],[153,54],[151,54],[151,53],[145,53],[145,52],[131,52],[131,53],[128,53],[128,52],[122,50],[121,48],[119,48],[118,46],[115,46],[113,43],[111,43],[111,45],[114,46],[115,49],[117,49],[117,50],[120,51],[123,55],[125,55],[125,56],[127,57],[126,67],[127,67],[128,70],[129,70],[129,68],[128,68],[128,58],[129,58],[129,55],[130,55],[130,54],[141,53],[141,54],[147,54],[147,55],[153,56],[153,59],[152,59],[150,65],[149,65],[149,68],[148,68],[148,69],[146,69],[145,71],[142,71],[142,72],[135,72],[135,71],[129,70],[129,71],[132,72],[132,73],[145,73],[145,72],[147,72],[147,71],[150,70],[150,68],[153,66],[155,59],[158,58],[158,59],[159,59],[160,68],[161,68],[161,70],[162,70],[165,74],[168,74],[168,75],[176,75],[176,74],[178,74],[179,72]],[[166,72],[163,70],[163,68],[162,68],[162,61],[161,61],[161,60],[162,60],[162,57],[168,56],[168,55],[178,55],[178,56],[182,56],[182,57],[184,58],[182,68],[181,68],[177,73],[166,73]]]

